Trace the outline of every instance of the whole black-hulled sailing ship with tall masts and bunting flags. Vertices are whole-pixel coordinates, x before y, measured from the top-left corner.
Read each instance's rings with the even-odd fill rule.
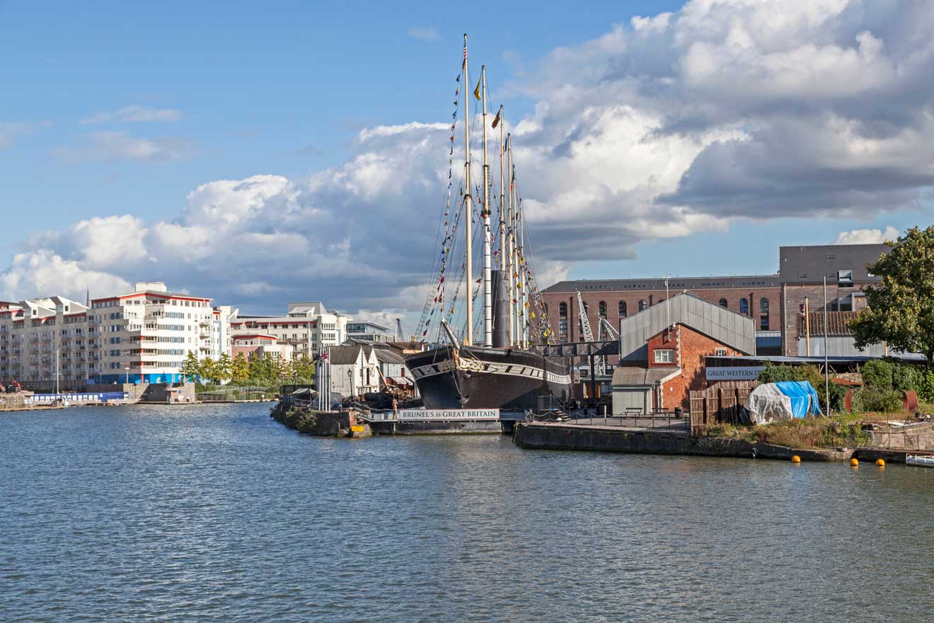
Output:
[[[503,136],[502,106],[491,127],[499,127],[500,193],[499,236],[490,227],[490,174],[487,140],[487,69],[484,66],[474,89],[475,100],[482,109],[482,187],[474,188],[471,177],[471,120],[467,65],[467,35],[464,35],[463,63],[456,80],[455,110],[452,115],[450,150],[444,212],[444,239],[440,256],[436,256],[432,288],[429,291],[418,329],[423,339],[436,332],[438,341],[446,344],[405,357],[405,364],[430,409],[535,409],[539,398],[552,396],[559,401],[572,397],[572,378],[563,361],[545,357],[533,343],[554,340],[548,326],[545,304],[531,271],[531,249],[525,245],[525,215],[517,193],[516,167],[512,159],[512,136]],[[463,136],[464,168],[460,190],[451,208],[453,189],[454,144],[464,88]],[[508,177],[508,188],[506,178]],[[476,191],[476,195],[474,195]],[[479,209],[475,209],[478,207]],[[474,219],[482,238],[482,275],[474,282],[473,245]],[[460,234],[462,223],[463,234]],[[440,227],[439,227],[440,229]],[[493,250],[497,241],[499,248]],[[458,241],[463,242],[463,263],[460,279],[446,280],[456,253]],[[499,266],[493,267],[496,257]],[[474,288],[474,285],[477,285]],[[461,288],[463,291],[461,291]],[[453,290],[453,294],[451,291]],[[463,304],[458,304],[462,296]],[[474,336],[474,297],[482,300],[482,332]],[[448,301],[450,298],[450,301]],[[455,318],[464,320],[461,338],[452,329]],[[433,324],[432,324],[433,323]],[[479,326],[477,327],[480,328]],[[480,344],[474,344],[474,341]]]

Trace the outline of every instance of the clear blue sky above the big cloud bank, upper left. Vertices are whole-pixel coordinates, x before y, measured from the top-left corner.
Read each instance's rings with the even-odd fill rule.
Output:
[[[304,175],[343,161],[363,127],[438,120],[465,27],[474,30],[472,58],[488,58],[502,77],[666,6],[676,3],[505,3],[502,20],[465,23],[455,7],[446,21],[422,19],[439,14],[432,2],[0,2],[0,120],[51,122],[0,150],[0,202],[12,212],[0,242],[8,256],[57,219],[171,217],[206,181]],[[410,28],[438,38],[414,38]],[[180,111],[182,120],[146,131],[185,137],[191,157],[155,165],[50,157],[99,129],[80,120],[133,105]]]

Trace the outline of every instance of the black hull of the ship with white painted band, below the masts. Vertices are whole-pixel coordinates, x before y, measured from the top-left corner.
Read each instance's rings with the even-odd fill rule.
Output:
[[[429,409],[537,409],[540,396],[572,397],[568,367],[528,350],[439,347],[405,365]]]

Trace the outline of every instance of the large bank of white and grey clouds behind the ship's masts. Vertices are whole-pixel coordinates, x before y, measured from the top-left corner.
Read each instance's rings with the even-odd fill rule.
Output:
[[[917,206],[934,185],[934,13],[922,5],[697,0],[553,50],[504,90],[534,103],[524,118],[507,110],[505,127],[540,285],[734,219]],[[79,223],[29,252],[127,281],[158,270],[249,311],[321,298],[415,319],[444,230],[450,125],[399,121],[361,130],[346,162],[308,177],[210,181],[177,219]],[[81,155],[187,151],[160,140],[98,133]],[[496,192],[495,157],[491,170]]]

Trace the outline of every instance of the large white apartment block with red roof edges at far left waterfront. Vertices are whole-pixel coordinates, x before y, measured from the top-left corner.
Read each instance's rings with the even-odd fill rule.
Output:
[[[0,382],[177,382],[189,352],[199,360],[231,353],[236,310],[210,301],[145,282],[90,305],[59,296],[0,304]]]

